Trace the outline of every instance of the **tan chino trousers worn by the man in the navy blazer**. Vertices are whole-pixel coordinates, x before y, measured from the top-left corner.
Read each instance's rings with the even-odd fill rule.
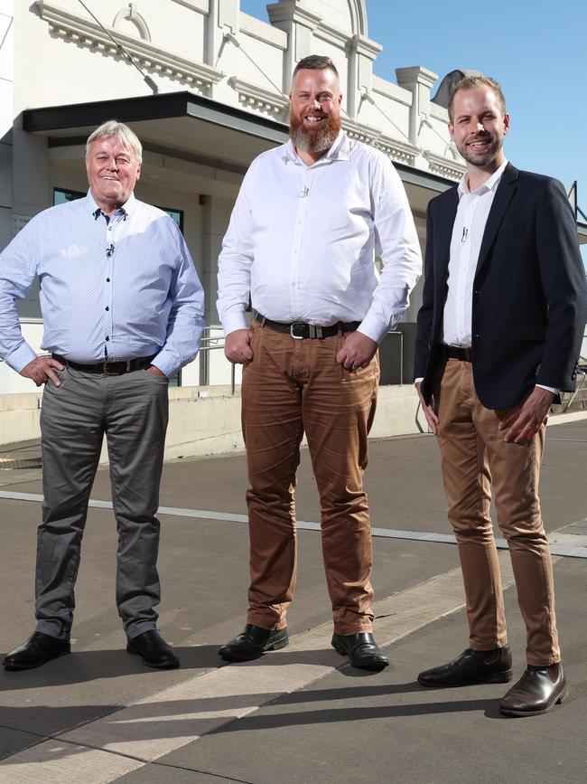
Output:
[[[449,359],[435,385],[438,444],[448,517],[457,538],[471,633],[477,650],[508,639],[498,553],[489,516],[491,486],[498,524],[508,541],[517,600],[526,622],[530,665],[560,661],[553,569],[538,499],[545,422],[526,445],[504,442],[508,410],[486,409],[475,392],[471,363]]]

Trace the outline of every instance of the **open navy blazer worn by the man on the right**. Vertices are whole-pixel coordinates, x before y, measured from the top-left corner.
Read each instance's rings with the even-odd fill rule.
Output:
[[[454,187],[428,204],[415,345],[415,378],[424,377],[427,403],[443,362],[443,309],[458,203]],[[573,391],[587,284],[573,211],[558,180],[506,166],[483,234],[472,297],[472,371],[486,408],[514,405],[536,383]]]

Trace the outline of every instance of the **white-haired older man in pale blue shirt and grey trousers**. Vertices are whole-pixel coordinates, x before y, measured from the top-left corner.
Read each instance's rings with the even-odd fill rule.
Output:
[[[172,219],[134,195],[142,148],[114,120],[88,139],[87,196],[45,210],[0,255],[0,351],[42,400],[42,524],[33,636],[4,660],[41,666],[70,653],[81,538],[104,435],[118,529],[116,605],[126,650],[154,667],[179,662],[156,630],[159,482],[170,376],[197,354],[203,292]],[[38,276],[37,357],[15,300]]]

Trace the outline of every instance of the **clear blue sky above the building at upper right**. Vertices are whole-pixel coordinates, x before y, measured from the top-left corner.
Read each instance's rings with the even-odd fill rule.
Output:
[[[369,38],[383,46],[378,76],[396,81],[396,68],[424,65],[441,79],[455,68],[497,79],[511,120],[508,159],[558,177],[567,191],[577,180],[587,214],[587,0],[366,5]],[[240,7],[268,21],[265,2],[240,0]]]

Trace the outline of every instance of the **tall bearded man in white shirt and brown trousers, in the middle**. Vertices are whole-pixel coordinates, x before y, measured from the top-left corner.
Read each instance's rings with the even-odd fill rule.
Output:
[[[394,166],[340,130],[341,101],[329,58],[297,64],[291,138],[253,161],[219,256],[225,352],[245,366],[250,482],[247,626],[220,647],[228,661],[287,645],[296,577],[293,488],[305,431],[321,498],[332,646],[354,666],[377,671],[388,664],[372,636],[362,477],[377,401],[377,345],[408,306],[422,259]],[[249,296],[256,318],[247,328]]]

